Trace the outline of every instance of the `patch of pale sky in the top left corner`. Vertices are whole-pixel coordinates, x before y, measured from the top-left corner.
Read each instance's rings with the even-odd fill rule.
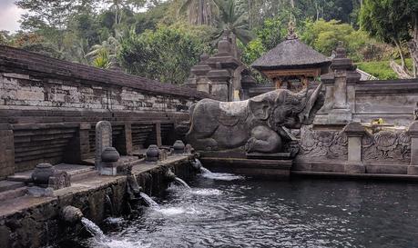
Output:
[[[0,30],[11,33],[17,31],[22,14],[25,14],[25,11],[15,5],[15,0],[0,0]]]

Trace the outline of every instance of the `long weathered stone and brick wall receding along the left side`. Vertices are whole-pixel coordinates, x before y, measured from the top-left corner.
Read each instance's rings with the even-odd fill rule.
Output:
[[[95,152],[95,126],[113,126],[121,154],[174,140],[189,106],[213,97],[123,72],[0,45],[0,179],[37,163],[82,163]],[[157,134],[158,130],[158,134]],[[14,151],[14,152],[13,152]]]

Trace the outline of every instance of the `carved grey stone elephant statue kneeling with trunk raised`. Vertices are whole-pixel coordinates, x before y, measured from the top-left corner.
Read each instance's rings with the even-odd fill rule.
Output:
[[[278,89],[240,102],[203,99],[190,107],[186,139],[200,151],[281,152],[287,128],[312,124],[323,104],[321,87],[296,94]]]

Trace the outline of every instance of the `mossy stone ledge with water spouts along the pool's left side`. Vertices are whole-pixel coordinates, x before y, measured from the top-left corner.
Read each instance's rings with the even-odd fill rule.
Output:
[[[191,157],[192,155],[172,155],[163,162],[136,164],[132,168],[132,174],[137,176],[138,184],[145,193],[156,195],[168,186],[165,168],[170,168],[182,179],[195,174],[189,164]],[[108,216],[105,203],[107,196],[113,203],[114,214],[126,211],[126,175],[98,175],[93,166],[86,165],[59,164],[57,167],[66,167],[66,171],[74,174],[76,180],[72,180],[70,187],[54,191],[51,197],[25,194],[26,186],[19,187],[25,184],[23,182],[1,182],[4,193],[13,195],[12,198],[0,201],[1,247],[43,247],[69,233],[80,232],[81,226],[66,225],[60,220],[60,211],[67,205],[79,208],[95,223],[101,223]],[[29,171],[18,174],[18,178],[24,180],[30,174]],[[21,193],[14,194],[14,191]]]

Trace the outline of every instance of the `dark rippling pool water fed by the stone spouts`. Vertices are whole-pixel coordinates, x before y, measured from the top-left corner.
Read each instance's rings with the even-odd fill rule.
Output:
[[[105,240],[57,247],[418,247],[418,184],[212,180],[171,187]],[[76,244],[75,244],[76,243]]]

